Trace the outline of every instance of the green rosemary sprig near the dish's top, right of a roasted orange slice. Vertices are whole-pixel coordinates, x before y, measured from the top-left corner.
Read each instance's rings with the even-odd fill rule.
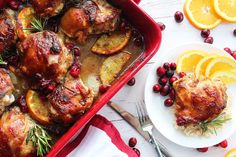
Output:
[[[31,30],[34,32],[42,32],[44,30],[46,20],[42,20],[41,18],[34,17],[30,24],[31,24],[31,27],[24,28],[24,30]]]

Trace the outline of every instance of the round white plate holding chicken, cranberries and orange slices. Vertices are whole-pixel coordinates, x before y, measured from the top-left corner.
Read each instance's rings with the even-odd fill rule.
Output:
[[[163,97],[152,91],[153,85],[157,83],[157,67],[161,66],[165,62],[176,62],[176,59],[180,54],[194,49],[203,50],[207,53],[217,53],[230,56],[225,51],[215,48],[210,44],[198,43],[183,45],[160,54],[146,81],[145,103],[150,119],[162,135],[176,144],[191,148],[201,148],[213,146],[231,136],[236,131],[236,114],[232,114],[232,119],[227,121],[223,128],[217,130],[217,135],[212,135],[210,137],[187,136],[181,130],[175,128],[175,116],[173,110],[164,106],[164,100],[167,97]],[[231,110],[232,113],[235,113],[236,97],[233,97],[233,94],[236,93],[236,84],[228,85],[227,88],[227,94],[231,96]]]

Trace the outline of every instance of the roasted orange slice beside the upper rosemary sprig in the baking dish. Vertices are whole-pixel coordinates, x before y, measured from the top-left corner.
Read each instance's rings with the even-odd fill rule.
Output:
[[[31,34],[31,22],[35,17],[35,11],[32,7],[26,7],[20,11],[17,17],[17,34],[20,40],[24,40],[28,35]]]

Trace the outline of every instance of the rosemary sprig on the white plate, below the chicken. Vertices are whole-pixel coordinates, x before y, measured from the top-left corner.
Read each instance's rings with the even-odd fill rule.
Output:
[[[204,121],[199,123],[199,127],[202,130],[202,134],[205,132],[210,132],[211,134],[216,132],[217,127],[221,127],[225,122],[229,121],[231,118],[227,118],[225,113],[220,114],[218,117],[213,119],[212,121]]]

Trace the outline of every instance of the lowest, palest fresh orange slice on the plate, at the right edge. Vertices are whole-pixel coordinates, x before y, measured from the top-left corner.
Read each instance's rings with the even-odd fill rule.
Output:
[[[233,71],[219,71],[211,75],[212,79],[218,78],[225,84],[236,83],[236,72]]]

